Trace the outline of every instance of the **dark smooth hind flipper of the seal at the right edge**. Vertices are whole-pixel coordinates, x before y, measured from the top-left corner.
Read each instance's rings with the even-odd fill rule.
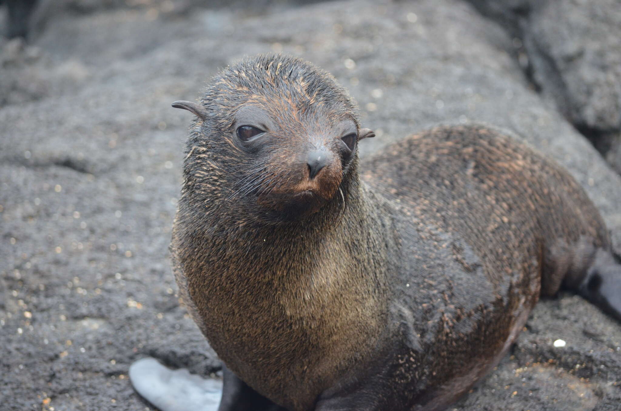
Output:
[[[609,251],[597,250],[595,259],[578,286],[578,293],[621,321],[621,264]]]

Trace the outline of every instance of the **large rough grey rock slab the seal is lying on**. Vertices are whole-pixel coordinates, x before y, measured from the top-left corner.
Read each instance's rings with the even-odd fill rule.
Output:
[[[243,55],[282,50],[331,71],[378,133],[365,156],[437,122],[514,130],[571,171],[621,251],[621,178],[468,2],[70,3],[39,17],[29,45],[0,40],[2,410],[148,409],[127,380],[146,355],[218,371],[168,264],[191,119],[170,102]],[[617,410],[620,350],[621,325],[584,300],[543,301],[454,409]]]

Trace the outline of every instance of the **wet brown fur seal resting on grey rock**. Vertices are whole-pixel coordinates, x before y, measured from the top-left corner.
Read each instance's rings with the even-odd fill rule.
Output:
[[[227,67],[200,104],[173,106],[197,116],[173,269],[225,364],[220,411],[442,410],[540,295],[568,287],[621,318],[596,207],[506,133],[437,127],[360,170],[373,132],[355,102],[284,55]]]

